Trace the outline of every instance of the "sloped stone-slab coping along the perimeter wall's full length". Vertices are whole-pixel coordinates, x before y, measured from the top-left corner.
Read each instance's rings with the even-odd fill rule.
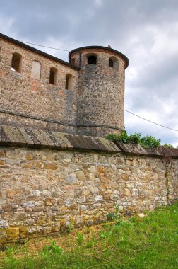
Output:
[[[0,146],[33,147],[49,149],[79,149],[83,151],[106,151],[140,156],[178,158],[178,149],[158,147],[146,149],[140,144],[123,144],[104,137],[71,135],[52,130],[36,130],[29,127],[1,125]]]

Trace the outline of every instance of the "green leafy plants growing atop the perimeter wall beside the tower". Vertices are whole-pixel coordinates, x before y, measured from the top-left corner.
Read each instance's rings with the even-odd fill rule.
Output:
[[[143,147],[159,147],[161,145],[161,140],[152,137],[151,135],[146,135],[145,137],[141,137],[140,133],[135,133],[128,135],[126,130],[121,133],[109,134],[106,136],[107,139],[112,139],[114,141],[119,141],[125,144],[141,144]],[[171,144],[164,144],[164,147],[172,147]]]

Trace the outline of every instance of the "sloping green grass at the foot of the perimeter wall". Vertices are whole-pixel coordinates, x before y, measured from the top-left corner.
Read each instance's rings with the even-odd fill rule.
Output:
[[[0,268],[178,268],[178,204],[1,253]]]

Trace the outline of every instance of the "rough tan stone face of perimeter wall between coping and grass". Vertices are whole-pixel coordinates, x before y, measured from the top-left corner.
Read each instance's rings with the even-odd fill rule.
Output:
[[[101,150],[13,147],[3,135],[1,130],[1,244],[97,224],[114,212],[115,204],[131,214],[177,199],[176,156],[166,157],[166,163],[162,156],[141,156],[141,147],[130,147],[129,153],[107,139],[64,134],[61,140],[69,146],[73,139],[92,139]]]

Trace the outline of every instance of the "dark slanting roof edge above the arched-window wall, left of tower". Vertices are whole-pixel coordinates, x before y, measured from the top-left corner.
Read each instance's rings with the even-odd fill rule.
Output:
[[[65,62],[62,59],[59,59],[57,57],[54,57],[52,55],[47,54],[46,52],[42,52],[41,50],[37,50],[35,47],[31,47],[29,45],[26,45],[23,42],[20,42],[20,41],[18,41],[16,39],[13,39],[13,38],[8,37],[7,35],[3,35],[2,33],[0,33],[0,38],[6,40],[8,42],[11,42],[11,43],[13,43],[15,45],[18,45],[20,47],[23,47],[25,50],[30,50],[31,52],[35,52],[37,55],[41,55],[41,56],[47,57],[48,59],[52,59],[55,62],[59,62],[60,64],[64,64],[67,67],[70,67],[72,69],[80,70],[79,67],[75,67],[75,66],[73,66],[73,64],[69,64],[69,62]]]

